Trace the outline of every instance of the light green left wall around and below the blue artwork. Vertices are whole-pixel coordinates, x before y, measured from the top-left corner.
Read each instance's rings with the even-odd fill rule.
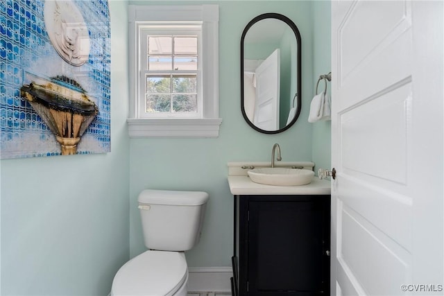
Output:
[[[1,160],[1,295],[107,295],[129,258],[127,8],[110,4],[112,152]]]

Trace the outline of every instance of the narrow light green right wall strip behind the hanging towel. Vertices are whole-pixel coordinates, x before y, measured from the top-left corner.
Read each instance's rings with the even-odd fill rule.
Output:
[[[331,33],[330,33],[330,1],[313,1],[313,85],[322,74],[327,74],[332,70],[331,67]],[[334,76],[334,73],[332,74]],[[331,82],[328,82],[328,93],[331,94]],[[319,82],[318,92],[322,92],[324,83]],[[313,96],[315,90],[313,89]],[[332,98],[332,103],[334,98]],[[315,162],[315,172],[318,174],[318,168],[331,168],[331,123],[332,121],[318,121],[312,123],[313,135],[311,142],[311,155]]]

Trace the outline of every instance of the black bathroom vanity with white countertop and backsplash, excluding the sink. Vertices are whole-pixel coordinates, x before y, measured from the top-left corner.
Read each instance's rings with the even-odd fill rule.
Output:
[[[271,186],[250,180],[248,169],[269,165],[228,164],[234,195],[232,295],[330,295],[330,181],[314,177],[307,185]]]

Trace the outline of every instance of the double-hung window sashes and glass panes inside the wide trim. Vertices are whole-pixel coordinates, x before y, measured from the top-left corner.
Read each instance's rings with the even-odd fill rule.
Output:
[[[200,26],[141,31],[139,117],[201,118]]]

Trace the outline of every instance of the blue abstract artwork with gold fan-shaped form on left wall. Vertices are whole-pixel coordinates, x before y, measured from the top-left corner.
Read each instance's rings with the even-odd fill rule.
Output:
[[[110,152],[108,0],[0,1],[0,157]]]

